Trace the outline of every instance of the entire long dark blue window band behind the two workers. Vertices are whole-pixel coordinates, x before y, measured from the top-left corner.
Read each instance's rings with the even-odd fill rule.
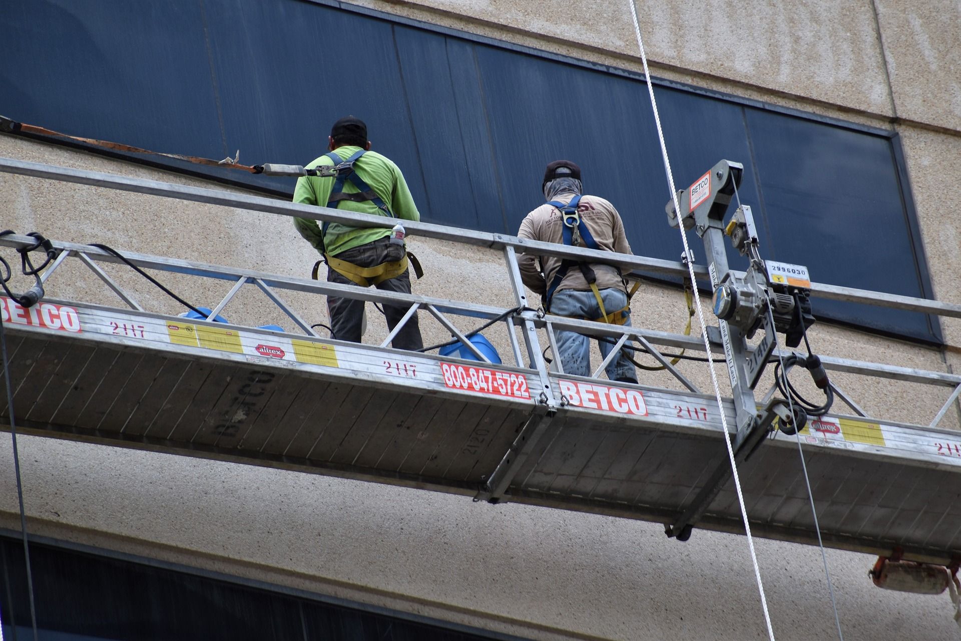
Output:
[[[0,112],[14,119],[164,152],[306,163],[354,113],[425,220],[513,234],[543,200],[544,165],[568,158],[585,190],[621,211],[635,253],[680,255],[647,86],[627,72],[299,0],[7,5]],[[740,195],[766,256],[808,264],[822,282],[927,291],[890,137],[679,86],[657,97],[678,187],[722,158],[745,164]],[[816,312],[940,339],[921,314],[861,309],[819,301]]]

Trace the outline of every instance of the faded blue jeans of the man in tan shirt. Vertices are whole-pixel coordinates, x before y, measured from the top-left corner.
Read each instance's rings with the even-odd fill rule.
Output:
[[[628,305],[628,295],[617,287],[602,289],[601,300],[604,301],[604,309],[608,314]],[[574,289],[561,289],[554,292],[554,296],[551,298],[551,313],[557,316],[582,316],[590,319],[600,318],[604,315],[593,291],[576,291]],[[629,314],[630,310],[628,309],[625,313]],[[630,327],[629,316],[624,327]],[[616,342],[616,338],[605,337],[604,340],[598,340],[602,357],[606,358],[610,354]],[[590,339],[588,336],[576,332],[557,332],[557,350],[560,352],[557,356],[560,357],[560,363],[564,367],[565,374],[591,375]],[[610,381],[637,382],[637,373],[628,357],[633,357],[633,350],[625,347],[607,364],[604,371]]]

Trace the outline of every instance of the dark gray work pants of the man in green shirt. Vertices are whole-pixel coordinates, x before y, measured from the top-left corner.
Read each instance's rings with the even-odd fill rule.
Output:
[[[402,256],[400,246],[391,245],[389,237],[384,236],[383,238],[378,238],[359,247],[340,252],[336,255],[336,258],[353,262],[360,267],[375,267],[382,262],[400,260]],[[327,268],[327,281],[329,283],[359,286],[346,276],[334,271],[330,266]],[[388,279],[375,286],[385,291],[399,291],[409,294],[410,270],[407,269],[400,276]],[[359,343],[363,308],[363,301],[352,298],[328,296],[327,309],[331,315],[333,338]],[[387,317],[387,327],[393,330],[401,318],[404,317],[404,314],[407,313],[407,309],[409,309],[409,306],[406,305],[384,305],[383,313]],[[424,340],[420,335],[420,326],[417,323],[416,313],[411,316],[407,324],[401,328],[401,331],[394,336],[391,345],[399,350],[419,350],[424,347]]]

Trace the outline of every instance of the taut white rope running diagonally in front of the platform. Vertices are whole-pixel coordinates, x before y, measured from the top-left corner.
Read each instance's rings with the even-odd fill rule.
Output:
[[[654,124],[657,126],[657,137],[660,140],[661,155],[664,160],[664,170],[667,172],[667,181],[671,187],[671,198],[674,199],[674,209],[678,212],[678,218],[680,216],[680,204],[678,203],[678,190],[674,186],[674,175],[671,173],[671,161],[667,157],[667,144],[664,142],[664,132],[661,129],[660,115],[657,113],[657,102],[654,100],[654,87],[651,84],[651,72],[648,70],[648,57],[644,52],[644,40],[641,38],[641,26],[637,22],[637,7],[636,0],[628,0],[630,5],[630,16],[634,20],[634,34],[637,36],[637,46],[641,50],[641,62],[644,63],[644,78],[648,83],[648,93],[651,94],[651,107],[654,112]],[[691,254],[690,247],[687,245],[687,235],[684,234],[683,224],[679,224],[678,220],[678,231],[680,232],[681,242],[684,244],[684,255],[688,258],[687,269],[690,273],[691,283],[696,284],[697,280],[694,276],[694,260]],[[707,333],[704,331],[704,313],[701,308],[701,295],[698,293],[698,287],[692,287],[694,290],[694,307],[698,310],[698,322],[701,323],[701,335],[704,339],[704,351],[707,354],[708,370],[711,373],[711,382],[714,384],[714,396],[717,398],[718,402],[718,413],[721,415],[721,425],[724,429],[724,442],[727,445],[727,456],[730,458],[730,469],[734,475],[734,487],[737,490],[737,502],[741,505],[741,518],[744,520],[744,530],[748,535],[748,548],[751,551],[751,561],[754,565],[754,579],[757,580],[757,591],[761,595],[761,607],[764,610],[764,622],[768,627],[768,638],[771,641],[775,641],[775,631],[771,627],[771,615],[768,613],[768,600],[764,596],[764,583],[761,581],[761,571],[757,565],[757,555],[754,553],[754,539],[751,535],[751,525],[748,523],[748,510],[744,505],[744,494],[741,492],[741,480],[737,474],[737,462],[734,460],[734,450],[730,444],[730,437],[727,433],[727,418],[725,417],[724,404],[721,401],[721,388],[718,385],[717,373],[714,371],[714,358],[711,357],[711,346],[707,342]]]

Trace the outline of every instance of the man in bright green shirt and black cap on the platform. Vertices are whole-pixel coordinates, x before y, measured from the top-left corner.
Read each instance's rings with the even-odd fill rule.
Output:
[[[328,148],[330,152],[308,164],[308,169],[339,165],[340,171],[335,177],[305,176],[298,179],[294,189],[295,203],[420,220],[404,174],[392,160],[370,151],[367,125],[362,120],[347,116],[333,123]],[[386,291],[410,293],[403,233],[392,234],[389,227],[318,225],[310,218],[294,218],[294,226],[327,260],[329,283],[373,284]],[[328,296],[327,308],[333,338],[360,342],[364,302]],[[408,308],[405,305],[383,306],[390,330],[400,322]],[[391,344],[402,350],[424,347],[416,313],[394,336]]]

